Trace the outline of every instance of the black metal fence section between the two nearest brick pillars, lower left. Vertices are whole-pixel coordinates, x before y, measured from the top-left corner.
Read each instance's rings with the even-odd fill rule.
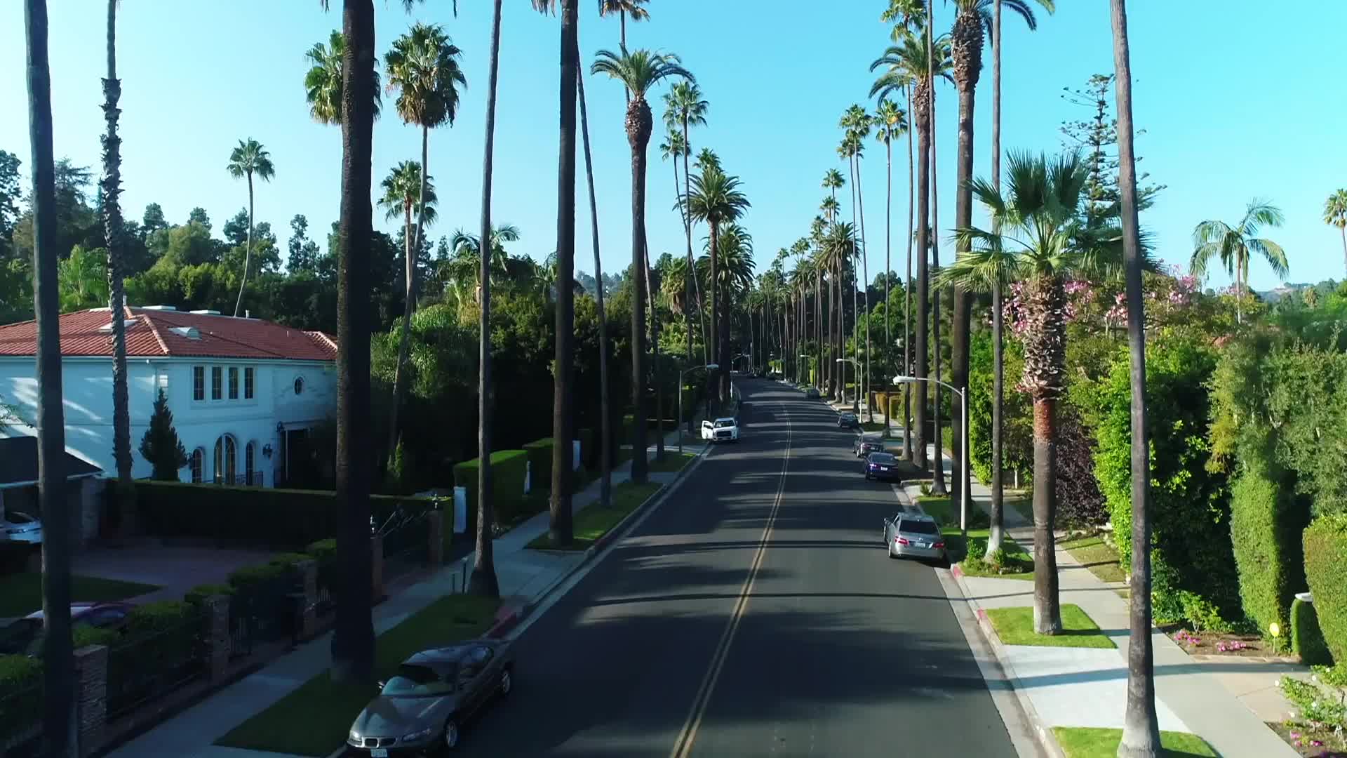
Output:
[[[108,720],[114,722],[206,674],[206,616],[183,614],[108,647]]]

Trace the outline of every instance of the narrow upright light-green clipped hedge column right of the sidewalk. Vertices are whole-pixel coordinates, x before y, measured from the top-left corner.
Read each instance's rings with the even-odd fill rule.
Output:
[[[1243,461],[1230,487],[1230,544],[1241,604],[1259,630],[1285,624],[1296,591],[1305,587],[1300,548],[1305,519],[1297,517],[1304,510],[1284,472]]]

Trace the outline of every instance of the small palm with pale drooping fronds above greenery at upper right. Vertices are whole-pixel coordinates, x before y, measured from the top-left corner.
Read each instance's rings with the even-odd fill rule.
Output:
[[[1257,255],[1281,278],[1290,270],[1286,251],[1280,244],[1258,236],[1263,227],[1281,227],[1285,220],[1280,208],[1255,198],[1249,202],[1239,224],[1231,227],[1224,221],[1203,221],[1192,231],[1193,251],[1188,267],[1195,276],[1203,278],[1207,275],[1211,259],[1220,259],[1226,272],[1235,281],[1235,320],[1239,324],[1243,324],[1241,303],[1245,289],[1249,287],[1249,259]]]

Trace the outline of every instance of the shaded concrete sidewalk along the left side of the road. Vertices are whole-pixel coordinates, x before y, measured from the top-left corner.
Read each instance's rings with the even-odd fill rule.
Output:
[[[678,434],[665,436],[665,453],[678,453]],[[684,444],[684,452],[700,453],[702,445]],[[655,445],[647,455],[653,459]],[[695,461],[686,464],[694,465]],[[632,464],[613,469],[613,486],[630,479]],[[651,473],[653,483],[668,484],[678,473]],[[601,480],[590,483],[572,496],[572,510],[579,513],[598,502]],[[550,515],[543,511],[516,526],[494,542],[496,577],[500,581],[501,607],[527,607],[537,602],[570,573],[579,568],[587,553],[528,550],[527,545],[547,531]],[[373,608],[374,634],[397,626],[412,614],[461,587],[461,572],[471,569],[474,553],[445,564],[430,576]],[[498,616],[500,618],[500,616]],[[141,755],[175,755],[179,758],[288,758],[275,753],[221,747],[214,742],[255,713],[276,703],[331,664],[331,633],[326,633],[276,658],[260,670],[221,689],[206,700],[151,728],[109,753],[109,758]],[[337,740],[341,735],[337,736]]]

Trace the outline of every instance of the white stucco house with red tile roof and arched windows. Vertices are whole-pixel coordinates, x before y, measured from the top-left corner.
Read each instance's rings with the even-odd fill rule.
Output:
[[[147,477],[140,438],[158,388],[187,448],[183,482],[284,486],[308,457],[313,429],[337,409],[337,343],[257,318],[171,306],[127,308],[132,476]],[[0,437],[35,436],[36,325],[0,326],[0,402],[18,424]],[[61,317],[66,450],[108,476],[112,457],[112,321],[106,308]]]

